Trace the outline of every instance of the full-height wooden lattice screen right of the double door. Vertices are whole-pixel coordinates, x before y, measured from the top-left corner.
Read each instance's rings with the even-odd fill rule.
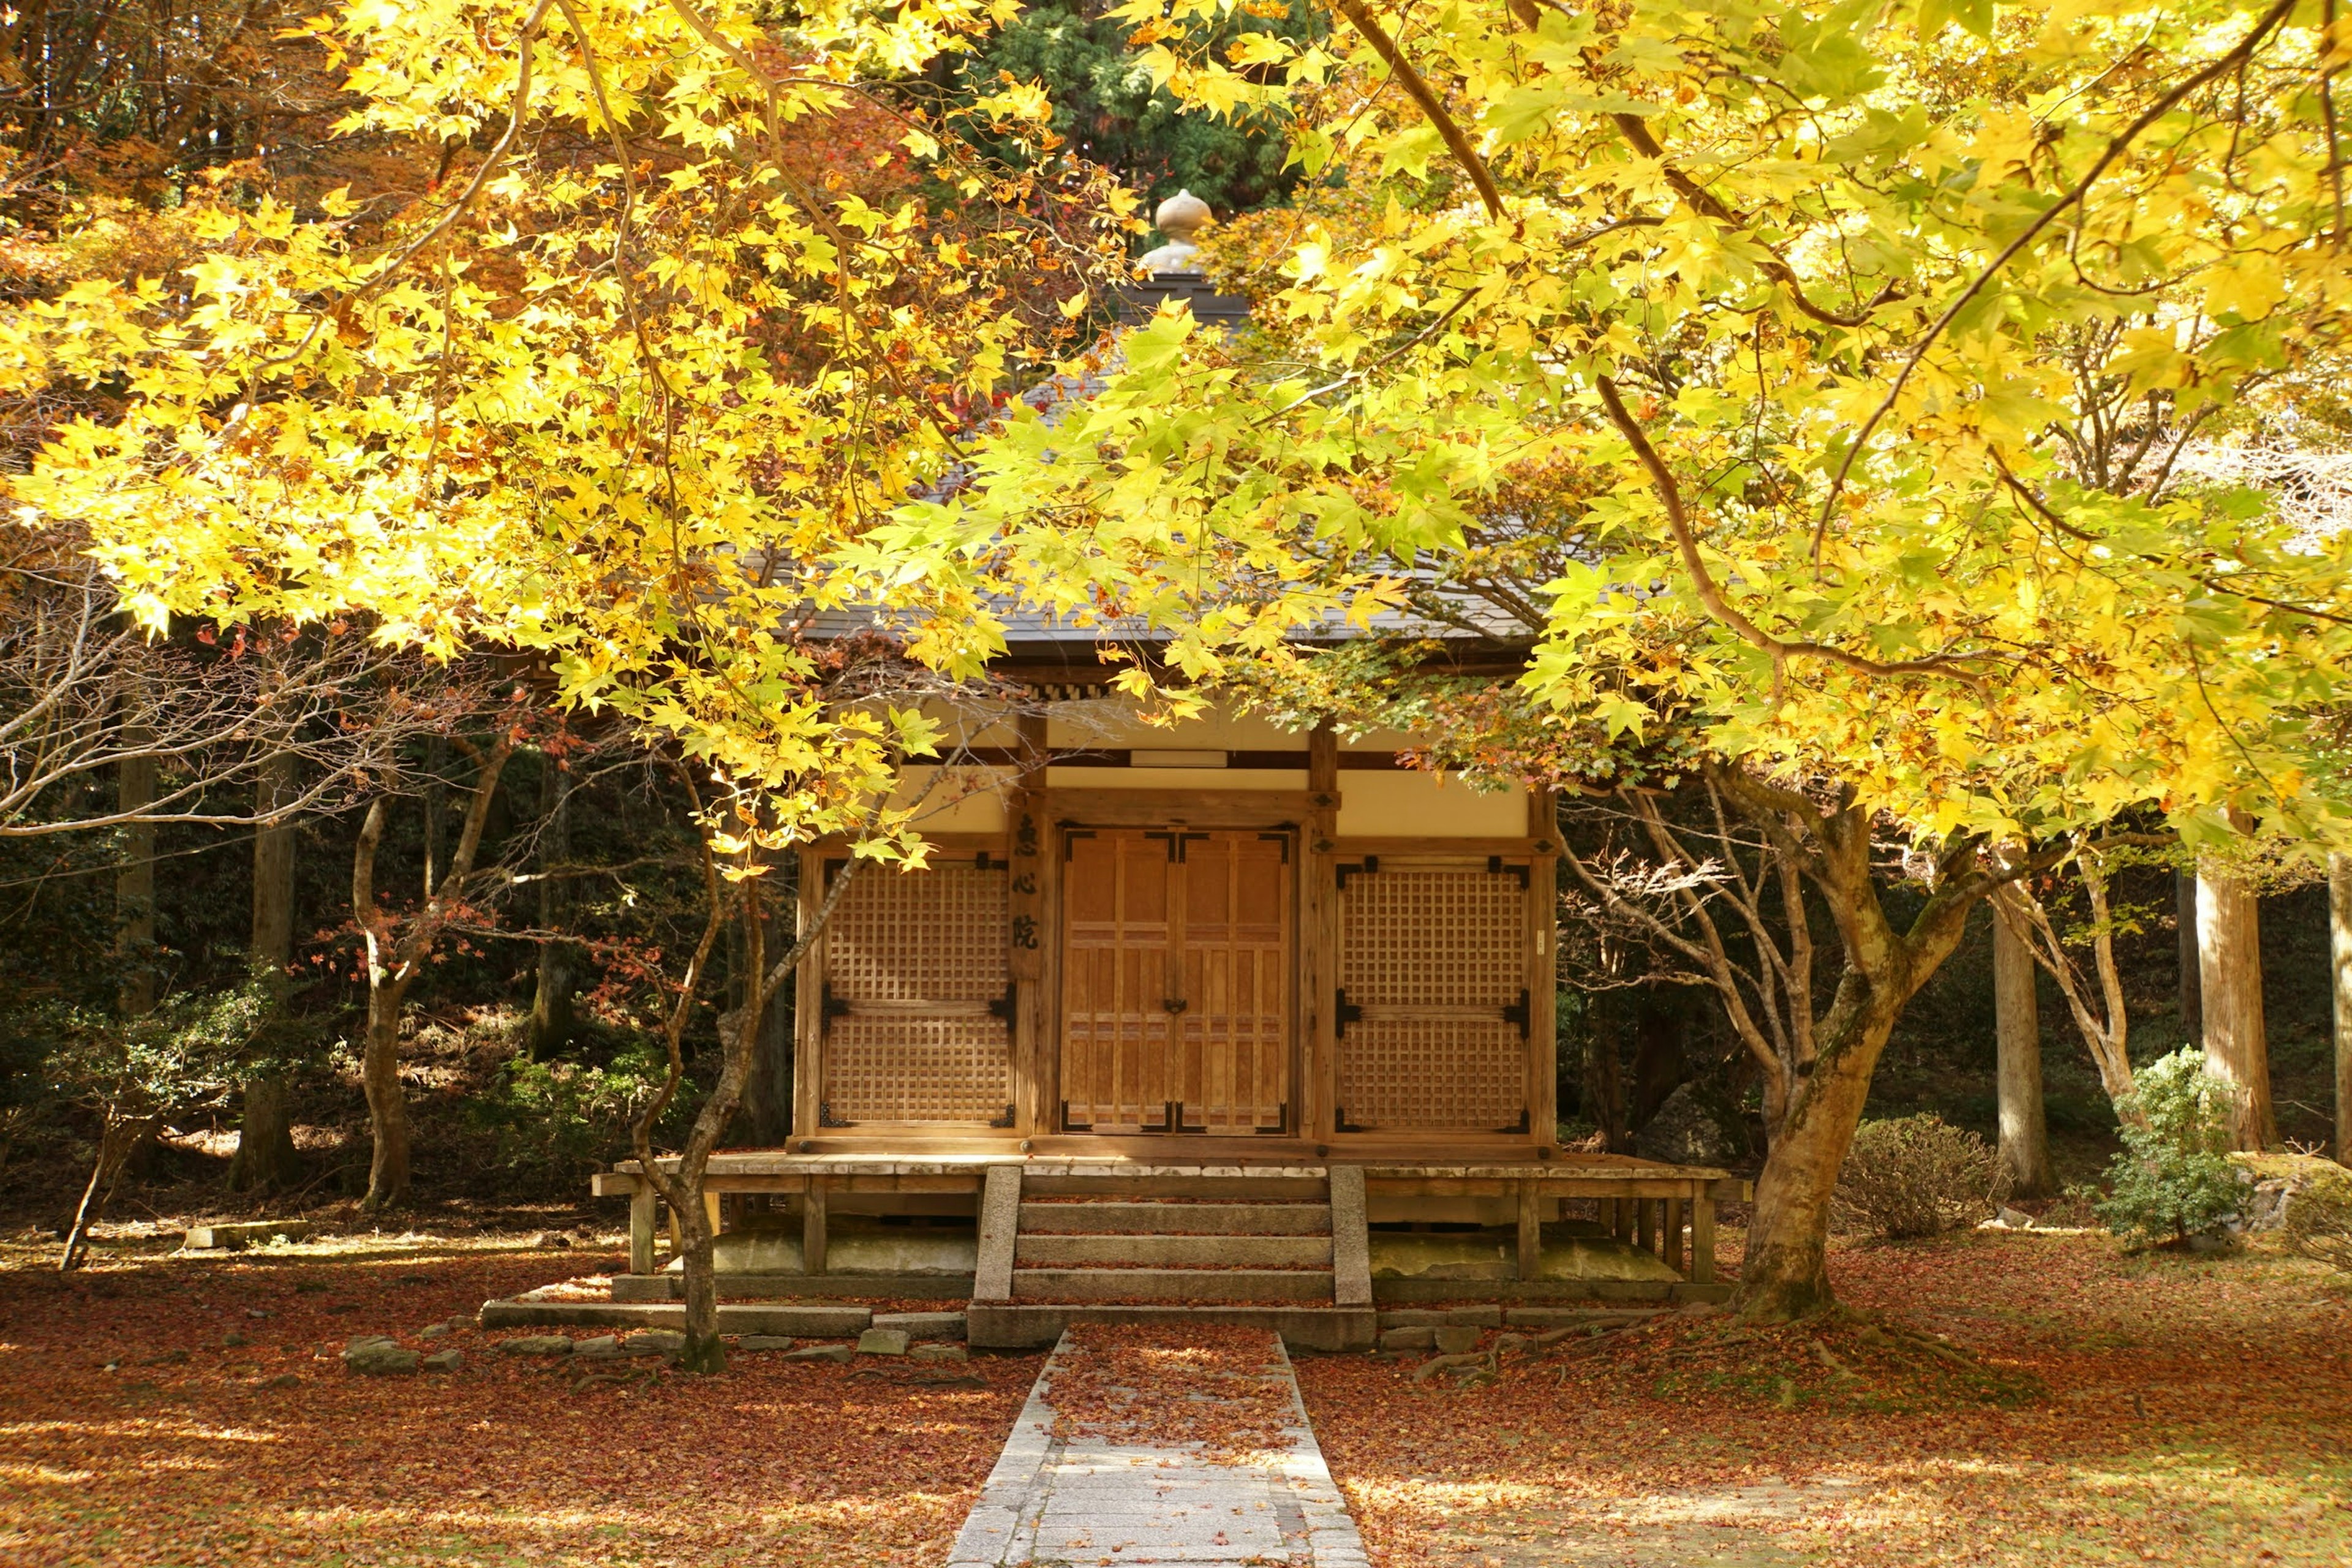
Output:
[[[1341,1131],[1524,1131],[1524,860],[1341,865]]]

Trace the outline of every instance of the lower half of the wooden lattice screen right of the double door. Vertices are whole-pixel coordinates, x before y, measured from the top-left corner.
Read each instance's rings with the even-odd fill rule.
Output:
[[[1364,1018],[1338,1041],[1352,1128],[1503,1131],[1526,1117],[1526,1039],[1498,1018]]]

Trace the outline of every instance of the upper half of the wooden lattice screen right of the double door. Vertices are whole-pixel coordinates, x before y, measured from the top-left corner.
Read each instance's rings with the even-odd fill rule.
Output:
[[[1526,886],[1486,867],[1357,872],[1338,983],[1374,1006],[1510,1006],[1526,987]]]

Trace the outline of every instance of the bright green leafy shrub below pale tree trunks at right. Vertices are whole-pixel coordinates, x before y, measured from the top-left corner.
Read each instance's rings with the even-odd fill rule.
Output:
[[[2211,1237],[2246,1204],[2246,1175],[2230,1164],[2232,1088],[2183,1046],[2140,1070],[2117,1100],[2124,1152],[2093,1204],[2117,1237],[2138,1244]]]

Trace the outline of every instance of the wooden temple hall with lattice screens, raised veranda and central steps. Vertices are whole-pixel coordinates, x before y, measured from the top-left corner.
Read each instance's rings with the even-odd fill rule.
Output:
[[[910,771],[929,870],[858,870],[797,976],[788,1145],[713,1159],[724,1293],[1331,1347],[1390,1302],[1724,1293],[1736,1180],[1557,1145],[1550,797],[1082,679]],[[807,851],[804,919],[842,863]],[[663,1300],[633,1168],[597,1178],[633,1199],[614,1295]]]

